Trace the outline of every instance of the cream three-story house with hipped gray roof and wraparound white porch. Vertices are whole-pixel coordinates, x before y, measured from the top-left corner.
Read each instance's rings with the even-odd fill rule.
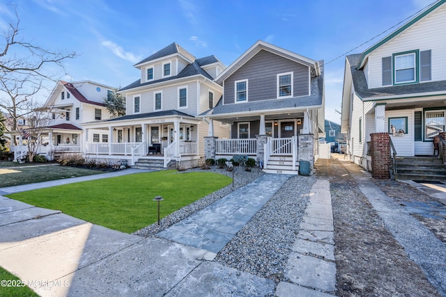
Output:
[[[84,124],[86,130],[102,129],[109,136],[107,145],[89,136],[85,153],[127,159],[132,165],[138,159],[162,159],[162,167],[171,161],[197,166],[204,156],[208,123],[196,116],[213,108],[222,96],[222,86],[214,78],[224,65],[215,56],[195,58],[172,43],[134,67],[141,77],[119,90],[126,97],[126,115]],[[215,133],[228,138],[229,127],[215,127]],[[149,154],[149,147],[155,146],[161,154]]]

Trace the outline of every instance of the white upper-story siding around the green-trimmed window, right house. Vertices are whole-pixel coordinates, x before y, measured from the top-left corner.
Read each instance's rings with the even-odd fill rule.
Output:
[[[446,80],[446,48],[438,32],[446,28],[446,7],[440,8],[381,45],[369,56],[369,88],[382,86],[381,58],[395,53],[431,49],[431,80]]]

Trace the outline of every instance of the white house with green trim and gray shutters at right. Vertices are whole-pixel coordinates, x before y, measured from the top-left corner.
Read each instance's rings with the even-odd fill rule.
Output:
[[[362,54],[346,57],[341,131],[351,161],[374,170],[375,136],[390,135],[397,156],[433,154],[433,138],[446,124],[445,28],[446,1],[440,0]]]

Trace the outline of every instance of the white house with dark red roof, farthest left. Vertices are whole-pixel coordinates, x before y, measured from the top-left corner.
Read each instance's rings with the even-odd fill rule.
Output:
[[[84,131],[82,123],[110,118],[103,102],[109,92],[116,90],[110,86],[93,81],[66,82],[58,81],[49,95],[45,107],[51,113],[51,120],[45,129],[42,145],[38,154],[45,154],[52,159],[57,154],[82,153]],[[17,121],[17,126],[21,123]],[[108,134],[102,131],[89,131],[90,137],[98,134],[101,143],[107,142]],[[16,137],[22,138],[21,131],[15,131]],[[16,152],[24,152],[25,147],[15,146]]]

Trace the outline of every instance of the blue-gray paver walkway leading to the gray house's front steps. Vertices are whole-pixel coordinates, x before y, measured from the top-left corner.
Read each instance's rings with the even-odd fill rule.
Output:
[[[220,252],[291,176],[262,175],[157,236],[210,252]]]

